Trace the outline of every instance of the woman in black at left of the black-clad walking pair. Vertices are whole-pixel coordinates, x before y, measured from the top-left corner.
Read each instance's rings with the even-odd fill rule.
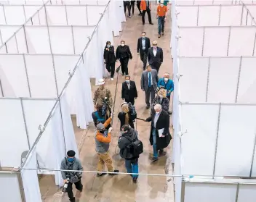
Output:
[[[105,68],[108,70],[108,72],[111,72],[111,80],[113,80],[113,75],[115,74],[116,58],[115,48],[111,46],[110,41],[107,41],[105,44],[103,57],[105,59]]]

